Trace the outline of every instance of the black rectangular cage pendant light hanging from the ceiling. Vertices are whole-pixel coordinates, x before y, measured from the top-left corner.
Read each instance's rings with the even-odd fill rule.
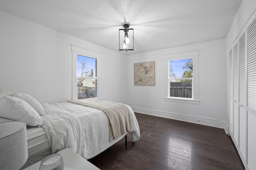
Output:
[[[133,29],[129,24],[124,24],[124,29],[119,29],[119,50],[133,50]]]

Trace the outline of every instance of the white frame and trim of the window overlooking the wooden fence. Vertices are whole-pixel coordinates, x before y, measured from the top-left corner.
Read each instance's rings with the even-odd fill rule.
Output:
[[[199,104],[199,77],[198,77],[198,51],[189,51],[184,53],[175,53],[164,55],[164,61],[167,63],[168,71],[166,71],[167,77],[167,92],[166,97],[164,97],[164,101],[166,102],[182,102],[182,103],[191,103],[191,104]],[[181,98],[181,97],[172,97],[170,96],[170,78],[169,78],[169,61],[171,60],[181,60],[181,59],[193,59],[193,80],[192,80],[192,98]],[[178,78],[179,79],[179,78]],[[186,78],[188,79],[188,78]]]

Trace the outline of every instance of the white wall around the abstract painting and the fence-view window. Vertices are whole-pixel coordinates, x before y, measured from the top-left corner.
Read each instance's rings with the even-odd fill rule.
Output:
[[[168,73],[163,55],[200,50],[200,104],[166,102]],[[134,63],[155,61],[155,86],[134,86]],[[225,39],[129,55],[128,104],[141,113],[224,128],[227,114],[227,68]],[[151,109],[153,105],[153,109]],[[196,121],[196,119],[200,121]]]

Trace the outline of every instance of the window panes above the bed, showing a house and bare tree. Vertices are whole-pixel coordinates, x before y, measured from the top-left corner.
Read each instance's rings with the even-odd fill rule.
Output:
[[[77,99],[97,97],[97,59],[76,56]]]

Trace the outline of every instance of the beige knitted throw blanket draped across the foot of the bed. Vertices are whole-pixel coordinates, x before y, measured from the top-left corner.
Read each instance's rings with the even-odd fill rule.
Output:
[[[121,103],[107,102],[102,100],[70,100],[73,104],[93,107],[102,110],[108,116],[109,140],[117,139],[132,129],[130,109]]]

